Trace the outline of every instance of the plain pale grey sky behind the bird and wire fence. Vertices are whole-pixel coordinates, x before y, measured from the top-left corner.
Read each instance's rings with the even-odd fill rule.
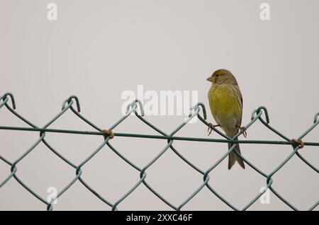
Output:
[[[265,105],[271,125],[294,138],[313,123],[319,110],[319,1],[267,1],[270,21],[259,19],[264,1],[114,0],[62,1],[57,21],[47,20],[51,1],[0,1],[0,94],[16,98],[17,112],[35,125],[43,126],[60,112],[62,101],[79,97],[82,114],[101,128],[113,125],[121,115],[121,93],[137,91],[198,91],[198,100],[208,106],[210,84],[206,78],[220,68],[237,77],[244,110],[242,125],[250,122],[252,110]],[[183,116],[149,116],[154,125],[172,132]],[[213,118],[208,108],[208,121]],[[23,126],[1,108],[0,125]],[[72,113],[66,113],[51,128],[92,130]],[[155,134],[130,117],[115,132]],[[318,128],[303,140],[318,142]],[[0,130],[0,154],[15,161],[30,147],[37,132]],[[187,125],[179,136],[207,137],[201,122]],[[211,137],[218,138],[213,133]],[[242,139],[242,137],[240,137]],[[81,163],[103,141],[101,137],[47,134],[47,142],[75,164]],[[281,140],[257,122],[247,139]],[[164,140],[116,137],[112,144],[142,167],[166,144]],[[206,170],[227,150],[226,144],[174,142],[181,154]],[[265,173],[279,166],[291,146],[246,144],[242,153]],[[318,168],[318,148],[299,151]],[[52,154],[43,144],[17,165],[17,175],[46,198],[47,188],[64,188],[75,170]],[[0,161],[0,180],[10,167]],[[210,184],[242,208],[257,195],[266,179],[247,168],[227,169],[227,160],[210,173]],[[116,202],[139,179],[130,167],[107,147],[83,167],[82,178],[100,195]],[[147,170],[147,182],[174,205],[179,205],[201,185],[203,177],[168,150]],[[293,156],[274,175],[273,187],[298,209],[318,201],[318,173]],[[275,195],[270,204],[257,201],[251,210],[290,209]],[[55,204],[56,210],[109,210],[77,181]],[[45,210],[16,180],[0,189],[0,209]],[[171,209],[140,185],[118,205],[120,210]],[[223,202],[203,188],[187,210],[228,210]],[[318,207],[316,208],[318,210]]]

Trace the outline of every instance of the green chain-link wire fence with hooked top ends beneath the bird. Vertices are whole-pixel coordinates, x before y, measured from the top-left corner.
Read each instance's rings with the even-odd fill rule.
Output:
[[[12,107],[9,105],[9,100],[11,100],[12,103]],[[77,110],[74,109],[73,104],[74,102],[77,105]],[[118,149],[116,149],[114,146],[112,146],[111,142],[109,142],[110,137],[108,135],[106,135],[103,131],[103,129],[99,128],[98,126],[94,125],[92,122],[90,122],[88,119],[86,119],[86,117],[84,117],[83,115],[80,114],[80,105],[79,105],[79,99],[77,98],[77,96],[70,96],[69,98],[67,98],[67,100],[65,100],[62,104],[62,110],[60,111],[60,113],[57,113],[57,115],[55,115],[55,117],[52,118],[52,120],[50,120],[49,122],[47,122],[46,125],[44,125],[43,127],[38,127],[37,125],[34,125],[32,122],[30,122],[29,120],[27,120],[25,117],[23,117],[22,115],[20,115],[19,113],[16,113],[16,103],[14,100],[14,97],[11,93],[5,93],[4,96],[0,97],[0,108],[6,107],[6,109],[8,109],[11,113],[13,113],[13,115],[15,115],[16,117],[18,117],[20,120],[22,120],[23,122],[25,122],[29,127],[4,127],[4,126],[0,126],[0,129],[9,129],[9,130],[23,130],[23,131],[28,131],[28,132],[40,132],[40,137],[39,139],[32,145],[30,146],[29,149],[27,149],[20,157],[18,157],[16,159],[16,161],[9,161],[6,158],[4,158],[4,156],[1,156],[0,154],[0,159],[1,161],[4,161],[6,164],[8,164],[9,166],[11,166],[11,171],[9,173],[9,175],[3,180],[0,180],[0,188],[2,188],[9,180],[11,179],[15,179],[23,188],[25,188],[26,190],[28,190],[28,192],[30,192],[30,194],[32,194],[34,197],[36,197],[38,200],[40,200],[41,202],[43,202],[44,204],[47,205],[47,210],[52,210],[53,209],[53,205],[52,202],[54,202],[58,197],[60,197],[61,195],[63,195],[72,185],[74,185],[74,183],[79,180],[80,183],[82,183],[82,185],[84,185],[85,188],[87,188],[90,192],[92,192],[96,197],[99,198],[99,200],[101,200],[102,202],[104,202],[105,204],[108,204],[108,206],[111,207],[112,210],[118,210],[118,204],[120,204],[121,202],[123,202],[123,200],[125,200],[126,197],[128,197],[128,195],[132,194],[134,192],[134,190],[136,188],[138,188],[139,185],[145,185],[145,187],[150,190],[154,195],[156,195],[160,200],[162,200],[165,204],[167,204],[169,207],[171,207],[174,210],[180,210],[182,207],[184,207],[185,204],[187,204],[195,195],[198,194],[198,192],[200,192],[203,188],[208,188],[208,190],[210,190],[213,195],[216,195],[216,197],[218,197],[222,202],[224,202],[225,204],[228,205],[228,207],[230,207],[231,209],[234,210],[246,210],[248,209],[252,204],[254,204],[254,202],[256,202],[259,197],[261,197],[264,192],[266,192],[268,189],[271,190],[274,195],[276,195],[276,197],[278,197],[282,202],[284,202],[286,205],[288,205],[291,209],[293,210],[298,210],[296,207],[293,206],[293,204],[291,204],[290,202],[288,202],[281,194],[279,194],[279,192],[277,192],[276,190],[274,190],[274,188],[272,188],[272,184],[274,182],[274,180],[272,179],[273,175],[275,173],[277,173],[294,155],[298,156],[298,158],[301,159],[301,161],[303,161],[304,163],[306,163],[306,165],[308,165],[311,169],[313,169],[315,172],[318,173],[318,168],[316,168],[315,166],[313,166],[311,163],[309,163],[306,158],[303,158],[303,156],[301,156],[301,154],[298,153],[298,149],[301,148],[301,146],[319,146],[319,142],[303,142],[302,144],[298,144],[295,141],[291,141],[291,139],[289,137],[286,137],[284,134],[282,134],[281,132],[279,132],[278,130],[274,129],[274,127],[272,127],[271,125],[269,125],[269,115],[267,112],[267,108],[265,108],[264,106],[261,106],[259,108],[257,108],[257,110],[254,110],[252,112],[252,120],[245,126],[246,129],[248,129],[250,126],[252,126],[257,120],[259,120],[260,122],[262,122],[262,125],[264,125],[265,127],[267,127],[268,129],[270,129],[272,132],[274,132],[275,134],[277,134],[279,137],[281,137],[282,139],[284,139],[283,141],[268,141],[268,140],[237,140],[236,138],[238,136],[240,136],[240,134],[242,134],[241,132],[238,132],[235,137],[228,137],[225,134],[223,134],[222,132],[220,132],[218,129],[214,128],[214,131],[217,132],[218,134],[220,134],[221,137],[223,137],[222,139],[211,139],[211,138],[196,138],[196,137],[177,137],[175,136],[175,134],[177,134],[177,132],[179,132],[180,129],[182,129],[185,125],[187,125],[187,123],[193,118],[193,117],[198,117],[198,119],[203,122],[204,125],[208,126],[208,122],[206,122],[206,108],[205,105],[203,105],[203,103],[197,103],[196,105],[194,105],[191,109],[190,109],[190,113],[189,113],[189,118],[182,122],[181,125],[179,125],[176,129],[174,129],[173,132],[171,133],[166,133],[163,132],[161,129],[155,127],[155,125],[152,125],[150,122],[148,122],[147,120],[145,120],[145,118],[143,117],[144,112],[143,112],[143,108],[142,108],[142,103],[140,102],[140,100],[134,100],[132,103],[130,103],[127,106],[127,113],[125,115],[123,115],[123,117],[121,117],[120,120],[118,120],[113,126],[111,126],[109,129],[113,130],[114,128],[116,128],[121,122],[123,122],[130,114],[134,113],[136,115],[136,117],[138,117],[139,120],[142,120],[142,122],[144,122],[146,125],[148,125],[149,127],[151,127],[152,129],[154,129],[158,135],[149,135],[149,134],[128,134],[128,133],[113,133],[115,137],[136,137],[136,138],[148,138],[148,139],[167,139],[167,145],[164,146],[164,148],[162,149],[162,151],[159,151],[159,154],[157,154],[157,156],[155,156],[155,158],[152,159],[152,161],[150,161],[149,163],[147,163],[146,166],[144,166],[143,168],[140,168],[138,166],[135,165],[135,163],[133,163],[132,161],[128,160],[128,158],[125,158],[125,156],[123,156],[121,154],[120,151],[118,151]],[[140,109],[140,113],[138,113],[138,108]],[[96,132],[91,132],[91,131],[80,131],[80,130],[68,130],[68,129],[50,129],[48,128],[50,125],[52,125],[53,122],[55,122],[59,117],[61,117],[65,112],[67,112],[67,110],[72,110],[72,112],[74,113],[74,115],[76,115],[77,117],[79,117],[81,120],[83,120],[84,122],[86,122],[86,124],[90,125],[91,127],[93,127],[94,129],[96,129]],[[201,116],[201,114],[199,113],[200,110],[202,110],[203,112],[203,117]],[[266,120],[264,120],[262,118],[262,114],[264,113],[264,116],[266,118]],[[306,129],[305,132],[303,132],[303,134],[301,134],[298,139],[303,139],[303,137],[305,137],[311,130],[313,130],[319,123],[318,120],[318,116],[319,113],[315,114],[314,117],[314,121],[313,121],[313,125],[310,125],[310,127],[308,129]],[[101,137],[103,137],[103,142],[87,157],[85,158],[84,161],[82,161],[82,163],[79,163],[79,165],[75,165],[74,163],[72,163],[71,161],[69,161],[67,158],[65,158],[65,156],[62,156],[62,154],[60,154],[53,146],[51,146],[46,140],[45,140],[45,135],[47,134],[47,132],[58,132],[58,133],[69,133],[69,134],[86,134],[86,135],[100,135]],[[182,140],[182,141],[193,141],[193,142],[231,142],[233,143],[233,146],[218,160],[216,161],[216,163],[213,163],[213,165],[208,168],[207,171],[202,171],[200,168],[198,168],[197,166],[195,166],[193,163],[191,163],[191,161],[189,161],[187,158],[185,158],[182,154],[179,153],[179,151],[177,151],[177,149],[174,147],[173,142],[174,140]],[[41,197],[40,195],[38,195],[38,193],[36,193],[35,191],[33,191],[31,188],[28,187],[28,185],[26,185],[26,183],[23,182],[23,180],[21,180],[21,178],[18,177],[18,175],[16,175],[16,172],[18,170],[18,163],[20,163],[23,158],[25,158],[28,154],[30,154],[31,151],[33,151],[33,149],[35,149],[36,146],[38,146],[38,144],[40,144],[40,142],[42,142],[43,144],[45,144],[45,146],[47,146],[48,149],[50,149],[55,155],[57,155],[59,158],[62,159],[62,161],[65,161],[65,163],[69,164],[69,166],[71,166],[72,168],[74,168],[75,170],[75,176],[74,178],[67,184],[67,186],[65,186],[65,188],[63,188],[62,190],[60,190],[60,192],[57,193],[57,196],[52,198],[52,200],[50,202],[48,202],[47,200],[45,200],[43,197]],[[280,163],[279,166],[277,166],[271,173],[267,174],[264,173],[263,171],[261,171],[259,168],[257,168],[256,166],[254,166],[254,164],[252,162],[250,162],[249,160],[247,160],[247,158],[243,157],[242,155],[239,155],[237,153],[237,151],[235,150],[235,144],[236,143],[244,143],[244,144],[279,144],[279,145],[291,145],[293,148],[293,151],[291,152],[291,154],[289,154],[289,156]],[[130,190],[128,190],[128,192],[125,193],[125,195],[123,195],[120,199],[118,199],[116,202],[110,202],[108,201],[105,197],[99,195],[98,192],[96,192],[93,188],[91,188],[91,186],[86,183],[81,175],[82,175],[82,166],[84,166],[85,163],[87,163],[91,158],[93,158],[99,151],[101,151],[101,149],[103,148],[103,146],[108,146],[109,149],[111,149],[114,153],[116,153],[120,158],[122,158],[126,163],[128,163],[130,166],[132,166],[133,168],[136,169],[136,171],[138,171],[138,173],[140,173],[140,180],[138,180],[137,183],[135,183],[135,185],[130,188]],[[181,202],[181,204],[179,205],[174,205],[171,202],[169,202],[168,200],[166,200],[162,195],[160,195],[154,188],[152,188],[151,185],[149,185],[147,183],[147,181],[145,180],[145,178],[147,177],[147,169],[150,168],[150,166],[152,166],[153,163],[155,163],[155,161],[157,161],[168,149],[171,149],[175,154],[177,154],[177,156],[179,156],[179,158],[181,158],[181,160],[183,160],[185,163],[187,163],[191,168],[193,168],[195,171],[197,171],[198,173],[200,173],[201,175],[203,175],[203,183],[196,189],[194,190],[194,192],[186,198],[186,200],[184,200],[183,202]],[[238,209],[237,207],[235,207],[233,204],[231,204],[230,202],[228,202],[228,200],[226,200],[224,197],[222,197],[218,192],[216,192],[216,190],[214,190],[214,188],[212,187],[212,185],[210,183],[208,183],[210,177],[209,177],[209,173],[211,173],[211,171],[213,171],[214,168],[216,168],[216,166],[218,166],[218,164],[223,161],[228,154],[230,154],[231,151],[235,151],[235,153],[237,155],[239,155],[243,161],[245,161],[245,163],[247,163],[247,165],[249,165],[252,169],[254,169],[254,171],[256,171],[257,173],[259,173],[260,175],[262,175],[265,180],[266,180],[266,187],[262,192],[259,192],[250,202],[248,202],[245,207],[243,207],[242,209]],[[315,204],[313,204],[313,206],[311,206],[308,210],[313,210],[315,209],[319,204],[319,200],[317,202],[315,202]]]

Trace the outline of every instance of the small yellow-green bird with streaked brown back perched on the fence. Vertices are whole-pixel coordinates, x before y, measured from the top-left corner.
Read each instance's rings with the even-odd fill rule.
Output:
[[[218,69],[206,79],[211,82],[211,88],[208,91],[208,101],[211,113],[217,125],[208,125],[208,135],[215,127],[223,129],[225,134],[233,138],[240,130],[244,137],[247,132],[245,127],[240,127],[242,123],[242,93],[238,86],[235,76],[227,69]],[[233,143],[228,143],[228,149]],[[240,146],[236,144],[235,150],[240,153]],[[245,169],[245,163],[235,151],[228,155],[228,170],[235,162]]]

